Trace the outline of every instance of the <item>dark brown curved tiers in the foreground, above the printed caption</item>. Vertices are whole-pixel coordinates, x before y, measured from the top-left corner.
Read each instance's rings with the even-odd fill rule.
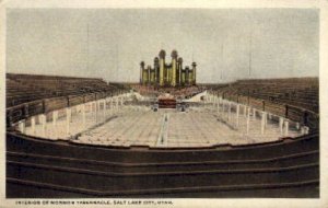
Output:
[[[318,135],[247,147],[159,150],[9,134],[7,197],[318,197]]]

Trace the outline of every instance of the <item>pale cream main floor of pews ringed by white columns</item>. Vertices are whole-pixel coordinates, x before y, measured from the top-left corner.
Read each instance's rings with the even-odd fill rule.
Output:
[[[192,102],[183,112],[176,108],[153,111],[151,97],[125,93],[33,116],[26,120],[24,132],[98,146],[195,148],[273,141],[308,131],[296,122],[283,120],[274,114],[208,92],[188,100]]]

